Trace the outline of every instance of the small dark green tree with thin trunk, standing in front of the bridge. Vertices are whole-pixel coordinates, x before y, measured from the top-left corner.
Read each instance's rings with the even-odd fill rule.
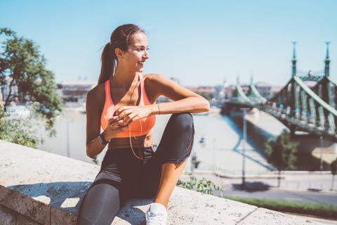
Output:
[[[281,171],[294,169],[297,160],[298,143],[291,141],[291,135],[284,129],[277,139],[270,139],[265,143],[267,160],[278,170],[277,187],[280,185]]]

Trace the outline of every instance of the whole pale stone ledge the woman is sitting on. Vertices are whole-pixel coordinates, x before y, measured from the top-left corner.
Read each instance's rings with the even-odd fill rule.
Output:
[[[77,210],[99,167],[0,141],[0,223],[76,224]],[[112,224],[145,224],[151,199],[134,199]],[[168,224],[317,224],[288,214],[176,187]]]

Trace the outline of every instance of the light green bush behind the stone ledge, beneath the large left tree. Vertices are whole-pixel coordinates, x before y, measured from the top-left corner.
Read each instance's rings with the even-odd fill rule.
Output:
[[[0,139],[22,146],[37,148],[37,143],[42,140],[36,136],[32,122],[22,119],[10,119],[0,105]]]

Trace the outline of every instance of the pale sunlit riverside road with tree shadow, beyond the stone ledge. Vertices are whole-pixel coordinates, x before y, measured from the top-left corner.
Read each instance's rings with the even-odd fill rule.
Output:
[[[287,200],[291,202],[315,203],[333,205],[337,207],[337,191],[329,191],[328,188],[319,189],[321,186],[327,187],[331,183],[331,175],[319,173],[283,174],[281,187],[277,188],[277,178],[250,178],[246,179],[246,188],[242,190],[242,179],[229,179],[216,176],[214,173],[196,172],[194,176],[200,180],[205,178],[213,181],[216,186],[223,189],[223,196],[235,196],[244,198],[260,198]],[[180,179],[187,181],[189,175],[183,174]],[[298,185],[298,181],[301,181]],[[286,184],[286,185],[285,185]],[[316,185],[316,186],[315,186]],[[314,190],[314,191],[310,191]],[[220,195],[220,193],[216,193]]]

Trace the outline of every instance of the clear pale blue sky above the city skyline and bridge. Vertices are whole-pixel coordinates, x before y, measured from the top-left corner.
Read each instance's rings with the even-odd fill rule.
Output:
[[[292,43],[298,70],[324,70],[331,41],[337,82],[337,1],[19,1],[0,0],[0,27],[40,46],[58,82],[97,80],[101,47],[115,27],[135,23],[147,32],[145,72],[176,77],[185,86],[291,77]]]

